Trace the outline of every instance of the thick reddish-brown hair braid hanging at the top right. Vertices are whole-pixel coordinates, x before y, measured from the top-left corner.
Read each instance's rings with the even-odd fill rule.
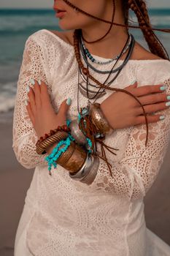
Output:
[[[144,39],[146,40],[148,47],[150,48],[151,53],[154,53],[155,55],[160,56],[163,59],[169,59],[169,55],[166,52],[166,49],[163,47],[162,43],[155,35],[154,31],[150,29],[152,28],[152,26],[150,24],[150,17],[147,12],[147,5],[145,1],[128,0],[128,9],[134,11],[138,19],[139,26],[142,26],[144,28],[142,29],[142,33],[144,35]]]

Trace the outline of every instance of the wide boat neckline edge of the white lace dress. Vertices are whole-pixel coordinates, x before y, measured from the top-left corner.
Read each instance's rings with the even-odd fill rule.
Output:
[[[64,41],[63,39],[61,39],[61,37],[58,37],[57,34],[54,34],[52,31],[47,30],[47,29],[42,29],[42,31],[46,31],[48,34],[51,34],[53,37],[55,37],[56,39],[58,39],[58,41],[62,42],[64,45],[66,45],[66,47],[68,47],[69,49],[71,49],[72,51],[74,51],[74,46],[70,45],[69,42]],[[93,54],[93,57],[95,57],[96,59],[100,60],[100,61],[109,61],[110,59],[106,59],[103,58],[101,56],[97,56]],[[124,61],[123,59],[120,59],[119,61]],[[128,61],[131,62],[140,62],[142,61],[142,63],[150,61],[150,62],[157,62],[157,61],[169,61],[168,59],[129,59]],[[170,61],[169,61],[170,62]]]

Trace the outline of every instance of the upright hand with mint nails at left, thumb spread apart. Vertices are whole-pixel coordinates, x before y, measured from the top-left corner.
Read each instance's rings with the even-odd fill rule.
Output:
[[[38,138],[49,133],[50,129],[56,129],[58,125],[66,124],[66,114],[69,110],[66,100],[61,103],[58,113],[55,113],[50,102],[47,85],[44,82],[41,81],[39,86],[39,83],[34,80],[33,89],[31,87],[29,89],[29,102],[26,109]]]

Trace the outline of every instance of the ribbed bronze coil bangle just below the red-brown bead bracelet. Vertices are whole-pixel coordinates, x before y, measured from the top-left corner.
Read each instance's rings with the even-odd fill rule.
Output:
[[[36,153],[37,154],[46,154],[45,151],[46,148],[53,145],[55,142],[59,142],[60,140],[64,140],[68,137],[67,132],[58,131],[54,135],[51,135],[49,138],[42,141],[42,143],[39,143],[38,146],[36,146]]]

